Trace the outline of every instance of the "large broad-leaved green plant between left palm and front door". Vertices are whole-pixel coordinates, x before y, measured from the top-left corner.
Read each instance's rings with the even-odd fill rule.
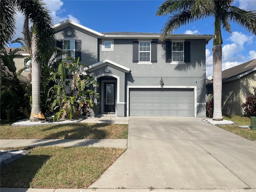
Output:
[[[70,58],[67,58],[70,59]],[[92,86],[98,86],[92,76],[85,76],[80,73],[80,66],[87,66],[79,63],[79,58],[64,60],[58,66],[58,72],[53,72],[52,77],[56,84],[48,90],[48,99],[54,99],[51,111],[56,111],[54,120],[73,119],[82,114],[88,115],[90,108],[96,111],[95,98],[98,94],[92,90]],[[87,66],[88,67],[88,66]],[[66,90],[69,81],[68,76],[72,76],[71,88]],[[51,97],[51,98],[50,98]]]

